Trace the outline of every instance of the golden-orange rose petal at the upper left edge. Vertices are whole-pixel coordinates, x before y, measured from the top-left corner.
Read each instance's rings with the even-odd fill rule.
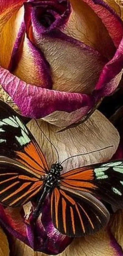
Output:
[[[23,19],[24,8],[20,8],[23,2],[0,1],[0,64],[4,68],[9,66],[13,45]]]

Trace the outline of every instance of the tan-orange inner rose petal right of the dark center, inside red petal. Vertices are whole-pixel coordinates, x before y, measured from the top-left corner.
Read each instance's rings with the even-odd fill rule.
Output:
[[[64,32],[110,58],[115,48],[101,19],[84,1],[71,0],[71,4],[73,11]]]

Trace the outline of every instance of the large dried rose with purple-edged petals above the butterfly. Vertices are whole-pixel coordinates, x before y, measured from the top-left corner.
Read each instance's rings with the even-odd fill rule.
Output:
[[[65,126],[117,88],[123,24],[103,1],[0,0],[0,13],[0,83],[23,115]]]

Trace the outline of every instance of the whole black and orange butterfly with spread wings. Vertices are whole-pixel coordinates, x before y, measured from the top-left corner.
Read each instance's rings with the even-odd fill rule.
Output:
[[[70,237],[96,232],[110,218],[100,200],[123,207],[123,160],[64,173],[58,158],[49,168],[20,115],[0,101],[0,203],[18,207],[36,196],[35,220],[47,195],[53,225],[59,232]]]

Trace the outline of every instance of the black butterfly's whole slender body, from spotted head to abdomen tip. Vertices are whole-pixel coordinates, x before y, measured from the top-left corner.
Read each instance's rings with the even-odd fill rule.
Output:
[[[42,204],[48,193],[52,193],[53,188],[58,185],[60,172],[63,170],[63,166],[60,163],[53,163],[48,174],[43,177],[43,185],[41,191],[39,191],[39,197],[37,205],[33,212],[33,218],[36,219],[42,211]],[[41,194],[41,196],[40,196]]]

